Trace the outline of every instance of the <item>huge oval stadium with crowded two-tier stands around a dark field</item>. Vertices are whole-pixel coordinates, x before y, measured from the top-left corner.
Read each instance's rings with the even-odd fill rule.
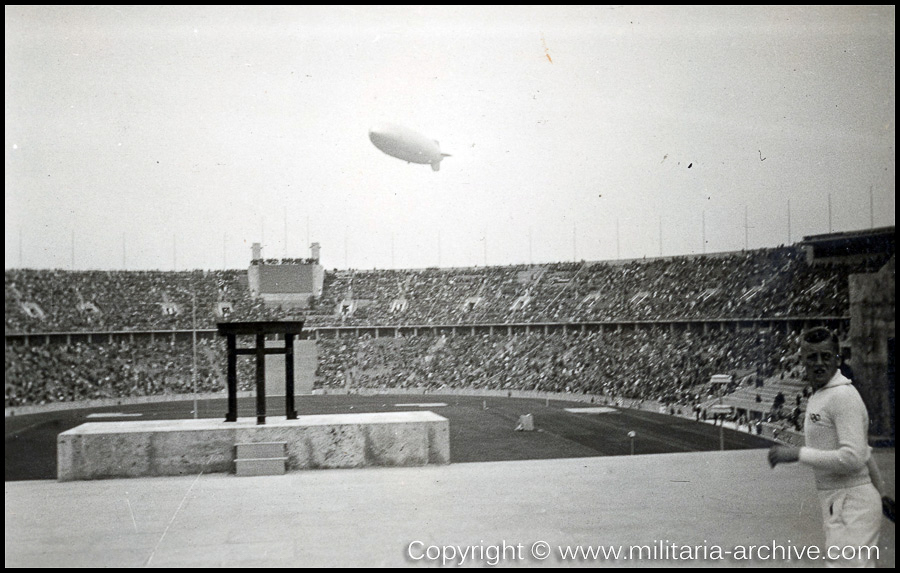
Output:
[[[873,312],[851,301],[873,297],[851,285],[893,278],[893,229],[827,237],[840,245],[823,254],[824,239],[528,267],[327,272],[316,258],[254,258],[230,272],[10,270],[8,491],[11,481],[54,479],[57,434],[89,419],[190,418],[195,405],[200,417],[221,416],[225,348],[213,327],[259,319],[309,325],[296,342],[301,415],[430,408],[450,420],[453,464],[552,462],[529,470],[540,472],[564,458],[745,456],[773,439],[799,443],[798,329],[829,325],[852,347],[862,329],[853,317]],[[871,357],[852,355],[854,369],[870,371]],[[240,414],[251,416],[252,364],[238,364]],[[886,363],[869,367],[887,376]],[[280,411],[283,392],[277,381],[267,386],[271,411]],[[873,405],[890,388],[860,387]],[[722,405],[727,420],[712,413]],[[600,413],[571,413],[585,407]],[[893,410],[870,410],[892,475]],[[525,414],[533,434],[514,431]],[[755,469],[766,471],[755,455]]]

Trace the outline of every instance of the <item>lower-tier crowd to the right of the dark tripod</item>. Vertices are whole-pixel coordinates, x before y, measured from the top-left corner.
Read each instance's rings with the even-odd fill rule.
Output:
[[[706,334],[665,328],[405,338],[323,339],[325,388],[535,390],[692,404],[710,378],[771,375],[791,337],[755,329]]]

